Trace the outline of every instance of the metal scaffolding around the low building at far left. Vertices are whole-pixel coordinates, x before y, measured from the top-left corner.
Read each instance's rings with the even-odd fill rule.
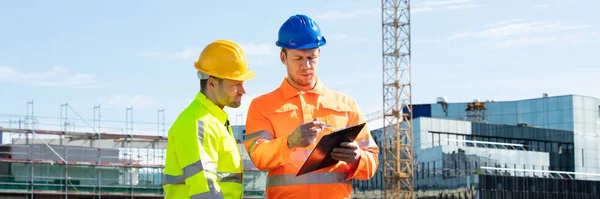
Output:
[[[156,135],[141,135],[133,128],[132,107],[126,110],[125,133],[119,134],[101,131],[120,128],[103,125],[111,121],[101,120],[100,106],[94,106],[90,124],[68,103],[61,104],[59,118],[36,117],[33,105],[27,102],[24,117],[0,115],[0,193],[31,198],[163,198],[164,109],[158,110],[158,121],[152,124]],[[69,118],[71,113],[77,117]]]

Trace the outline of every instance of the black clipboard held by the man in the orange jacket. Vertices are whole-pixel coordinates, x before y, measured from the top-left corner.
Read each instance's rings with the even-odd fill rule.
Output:
[[[342,142],[352,142],[367,123],[349,126],[324,135],[300,167],[296,176],[310,173],[337,164],[339,161],[331,157],[331,151]]]

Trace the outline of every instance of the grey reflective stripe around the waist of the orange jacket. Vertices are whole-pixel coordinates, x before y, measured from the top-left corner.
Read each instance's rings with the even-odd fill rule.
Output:
[[[346,180],[348,173],[344,172],[323,172],[307,173],[296,177],[296,174],[284,174],[267,177],[267,187],[299,185],[299,184],[350,184],[352,180]]]

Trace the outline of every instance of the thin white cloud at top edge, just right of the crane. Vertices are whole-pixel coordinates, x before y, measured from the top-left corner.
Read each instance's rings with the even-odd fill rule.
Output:
[[[432,12],[438,10],[458,10],[466,8],[477,8],[479,4],[469,3],[473,0],[441,0],[424,1],[411,6],[411,13]]]

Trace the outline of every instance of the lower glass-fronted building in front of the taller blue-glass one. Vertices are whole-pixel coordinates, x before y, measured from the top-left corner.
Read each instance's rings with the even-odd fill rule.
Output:
[[[419,198],[600,196],[597,176],[574,172],[573,131],[426,117],[413,126]]]

